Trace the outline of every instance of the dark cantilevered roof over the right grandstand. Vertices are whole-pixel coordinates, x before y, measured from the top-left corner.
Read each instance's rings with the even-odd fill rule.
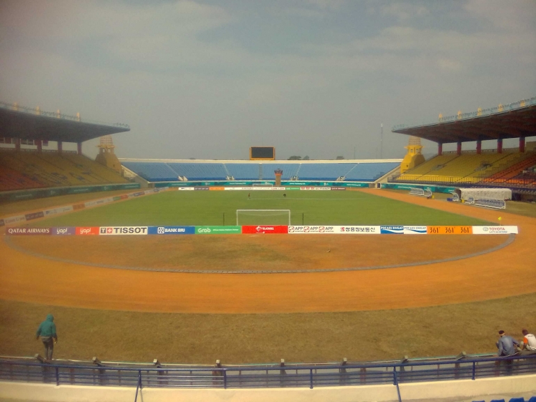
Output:
[[[536,97],[455,116],[427,125],[395,125],[393,132],[441,144],[536,136]]]

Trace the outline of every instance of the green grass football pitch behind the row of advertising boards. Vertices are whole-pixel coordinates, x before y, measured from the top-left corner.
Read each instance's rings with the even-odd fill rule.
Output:
[[[480,219],[362,192],[162,192],[38,222],[38,226],[234,225],[236,210],[291,210],[294,225],[482,225]],[[225,216],[224,216],[225,215]],[[223,220],[225,219],[225,222]],[[285,224],[250,219],[245,224]]]

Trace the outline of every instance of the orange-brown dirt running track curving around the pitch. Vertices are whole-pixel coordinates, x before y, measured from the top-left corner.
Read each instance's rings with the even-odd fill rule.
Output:
[[[407,194],[362,191],[492,222],[502,216],[503,224],[518,225],[520,233],[498,252],[459,261],[387,270],[257,275],[95,268],[29,256],[2,241],[0,297],[90,309],[282,313],[425,307],[533,293],[536,288],[536,219]],[[285,235],[275,237],[288,240]],[[444,249],[459,244],[459,236],[440,237]],[[414,252],[436,259],[435,247]]]

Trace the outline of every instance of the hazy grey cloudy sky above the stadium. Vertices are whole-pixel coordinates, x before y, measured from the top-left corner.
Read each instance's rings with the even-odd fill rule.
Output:
[[[1,0],[0,100],[127,123],[119,157],[403,157],[393,125],[536,96],[535,21],[534,0]]]

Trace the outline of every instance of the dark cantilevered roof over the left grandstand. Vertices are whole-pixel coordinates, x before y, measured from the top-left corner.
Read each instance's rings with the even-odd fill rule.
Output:
[[[106,134],[130,131],[126,124],[81,121],[78,116],[36,111],[0,102],[0,137],[84,142]]]

